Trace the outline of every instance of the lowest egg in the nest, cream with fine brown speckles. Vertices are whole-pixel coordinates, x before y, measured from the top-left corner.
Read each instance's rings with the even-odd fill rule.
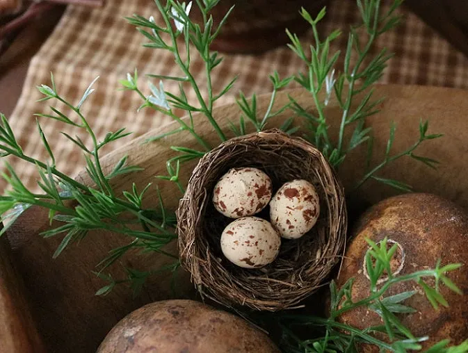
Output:
[[[221,250],[241,268],[261,268],[280,252],[281,238],[270,222],[243,217],[227,225],[221,235]]]

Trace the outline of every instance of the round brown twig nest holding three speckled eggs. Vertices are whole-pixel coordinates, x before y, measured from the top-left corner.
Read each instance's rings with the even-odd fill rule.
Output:
[[[257,167],[268,174],[273,192],[293,179],[314,184],[321,215],[309,233],[283,240],[279,256],[260,269],[227,261],[220,249],[223,229],[232,222],[216,211],[213,188],[232,167]],[[276,311],[296,306],[323,284],[341,260],[346,240],[344,190],[318,149],[280,131],[229,140],[198,163],[177,210],[179,255],[202,296],[227,306]],[[268,220],[267,210],[260,217]]]

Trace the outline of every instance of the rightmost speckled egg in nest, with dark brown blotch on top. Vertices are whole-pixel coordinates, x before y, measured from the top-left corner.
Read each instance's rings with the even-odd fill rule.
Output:
[[[271,224],[287,239],[297,239],[312,229],[318,220],[320,201],[307,180],[284,183],[271,199]]]

